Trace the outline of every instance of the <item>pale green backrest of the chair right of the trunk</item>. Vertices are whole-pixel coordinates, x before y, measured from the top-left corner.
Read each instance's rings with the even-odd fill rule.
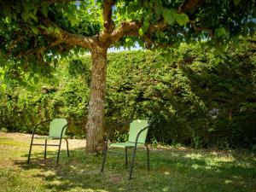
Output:
[[[135,143],[136,142],[137,133],[139,131],[143,130],[143,128],[145,128],[146,126],[148,126],[148,120],[143,120],[143,119],[133,120],[131,122],[131,124],[130,124],[130,131],[129,131],[129,140],[128,140],[128,142]],[[145,131],[143,131],[140,134],[140,136],[138,137],[137,142],[138,143],[145,143],[147,135],[148,135],[148,129],[146,129]]]

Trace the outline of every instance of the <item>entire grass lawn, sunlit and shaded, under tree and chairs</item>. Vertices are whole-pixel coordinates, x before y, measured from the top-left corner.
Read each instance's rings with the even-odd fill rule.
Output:
[[[70,140],[69,159],[63,143],[59,166],[57,148],[49,147],[44,160],[40,146],[33,146],[27,165],[30,137],[0,132],[0,191],[256,192],[256,156],[246,151],[151,148],[148,172],[142,149],[137,152],[134,178],[128,180],[123,150],[109,152],[100,173],[102,156],[86,154],[84,141],[79,140]]]

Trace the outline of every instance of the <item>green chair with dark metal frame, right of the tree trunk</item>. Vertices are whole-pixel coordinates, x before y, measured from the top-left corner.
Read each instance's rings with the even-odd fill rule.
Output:
[[[131,179],[132,176],[132,171],[133,171],[133,166],[134,166],[134,161],[135,161],[135,155],[138,147],[146,147],[147,148],[147,166],[148,166],[148,171],[149,171],[149,149],[148,145],[146,144],[146,138],[148,135],[148,120],[143,120],[143,119],[136,119],[132,121],[128,121],[125,123],[122,123],[120,125],[116,125],[114,128],[125,125],[125,124],[130,124],[130,131],[129,131],[129,139],[128,142],[125,143],[111,143],[108,146],[108,137],[106,141],[106,145],[103,151],[103,160],[102,160],[102,170],[104,170],[104,165],[106,162],[106,156],[107,156],[107,150],[108,147],[111,148],[125,148],[125,166],[128,166],[127,159],[127,149],[128,148],[133,148],[133,154],[132,154],[132,159],[131,159],[131,169],[130,169],[130,175],[129,179]]]

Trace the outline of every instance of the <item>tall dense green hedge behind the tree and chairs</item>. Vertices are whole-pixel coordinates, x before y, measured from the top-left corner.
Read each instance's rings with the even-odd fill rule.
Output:
[[[154,143],[253,147],[255,49],[255,44],[243,44],[216,57],[197,44],[183,45],[172,56],[150,51],[109,54],[106,127],[147,117]],[[69,134],[84,136],[90,57],[63,59],[55,77],[55,84],[40,84],[37,91],[17,86],[1,92],[0,126],[29,131],[39,120],[66,117]]]

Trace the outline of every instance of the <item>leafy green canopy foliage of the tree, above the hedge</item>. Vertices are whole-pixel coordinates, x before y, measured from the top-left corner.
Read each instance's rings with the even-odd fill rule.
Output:
[[[9,69],[3,73],[4,79],[20,80],[24,73],[49,76],[49,61],[58,60],[74,47],[83,47],[74,41],[76,35],[98,38],[106,30],[103,26],[106,19],[103,21],[102,16],[104,2],[107,1],[12,0],[6,3],[0,0],[0,66]],[[238,44],[238,38],[253,36],[255,32],[255,0],[109,2],[114,4],[115,28],[129,21],[140,23],[136,35],[124,32],[109,47],[132,47],[138,43],[157,49],[207,39],[208,44],[222,50],[223,45]],[[154,25],[158,29],[151,32],[150,26]],[[63,39],[64,32],[73,36]],[[88,49],[87,45],[84,47]],[[37,81],[36,76],[32,79]]]

